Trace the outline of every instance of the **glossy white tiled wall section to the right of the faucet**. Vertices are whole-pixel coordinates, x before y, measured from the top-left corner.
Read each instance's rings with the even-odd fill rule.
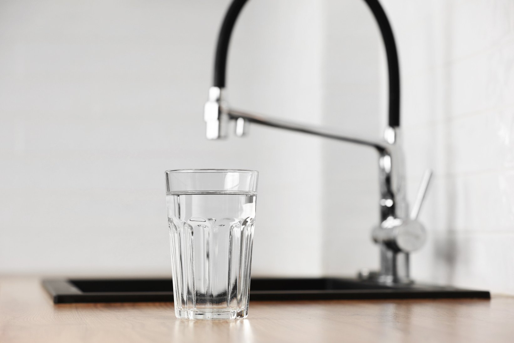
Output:
[[[414,276],[514,293],[514,2],[384,0],[398,36],[409,193],[435,170]]]

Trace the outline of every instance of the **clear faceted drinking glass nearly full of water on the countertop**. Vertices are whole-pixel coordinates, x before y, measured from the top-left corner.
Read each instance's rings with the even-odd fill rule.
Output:
[[[166,171],[177,318],[248,315],[258,175],[252,170]]]

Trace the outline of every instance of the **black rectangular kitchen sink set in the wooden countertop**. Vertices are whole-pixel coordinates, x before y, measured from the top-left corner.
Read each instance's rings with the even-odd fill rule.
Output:
[[[45,279],[53,303],[173,301],[171,279]],[[487,291],[341,278],[252,278],[250,300],[490,299]]]

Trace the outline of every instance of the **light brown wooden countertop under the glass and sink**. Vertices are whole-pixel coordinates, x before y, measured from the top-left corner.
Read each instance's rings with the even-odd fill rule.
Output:
[[[53,305],[0,279],[0,342],[514,342],[514,297],[250,302],[244,320],[175,319],[173,303]]]

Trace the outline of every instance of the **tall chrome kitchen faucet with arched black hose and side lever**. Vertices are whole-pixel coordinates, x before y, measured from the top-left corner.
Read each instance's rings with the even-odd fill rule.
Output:
[[[311,135],[356,143],[375,148],[378,152],[380,185],[380,223],[372,230],[373,240],[380,246],[379,272],[361,272],[359,277],[381,283],[412,283],[409,273],[409,255],[426,241],[426,230],[417,220],[421,204],[427,191],[431,171],[421,181],[412,210],[406,199],[406,175],[400,135],[400,77],[394,35],[386,13],[378,0],[364,0],[377,21],[386,48],[389,75],[389,122],[383,138],[348,134],[340,130],[304,125],[272,119],[232,109],[223,98],[227,53],[230,36],[247,0],[233,0],[225,15],[218,35],[214,63],[214,84],[209,89],[209,100],[205,104],[204,119],[207,123],[207,138],[225,138],[228,122],[235,121],[235,135],[244,136],[249,123],[303,132]]]

